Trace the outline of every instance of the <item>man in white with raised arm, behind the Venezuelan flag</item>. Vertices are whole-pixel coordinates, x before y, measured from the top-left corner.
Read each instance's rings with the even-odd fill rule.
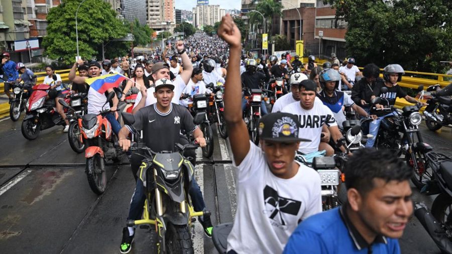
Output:
[[[78,60],[76,62],[77,65],[82,64],[82,60]],[[98,77],[101,76],[101,68],[100,68],[100,64],[96,61],[91,61],[88,65],[88,69],[89,69],[89,75],[91,77]],[[72,68],[69,72],[69,80],[71,80],[72,82],[75,83],[84,83],[85,80],[89,77],[89,76],[76,76],[75,75],[75,69]],[[114,93],[115,90],[110,88],[108,89],[105,94],[109,94],[109,93]],[[105,115],[105,118],[108,120],[108,122],[111,124],[111,129],[113,130],[113,132],[115,132],[116,135],[118,135],[120,129],[121,129],[121,124],[118,122],[118,120],[115,117],[115,114],[113,113],[114,111],[116,111],[117,107],[118,107],[118,97],[113,97],[113,106],[110,108],[109,103],[107,103],[106,101],[106,95],[105,94],[100,94],[97,91],[95,91],[94,89],[89,89],[88,90],[88,114],[99,114],[99,112],[101,112],[102,110],[107,110],[110,109],[111,112],[107,115]],[[106,104],[105,104],[106,103]]]

